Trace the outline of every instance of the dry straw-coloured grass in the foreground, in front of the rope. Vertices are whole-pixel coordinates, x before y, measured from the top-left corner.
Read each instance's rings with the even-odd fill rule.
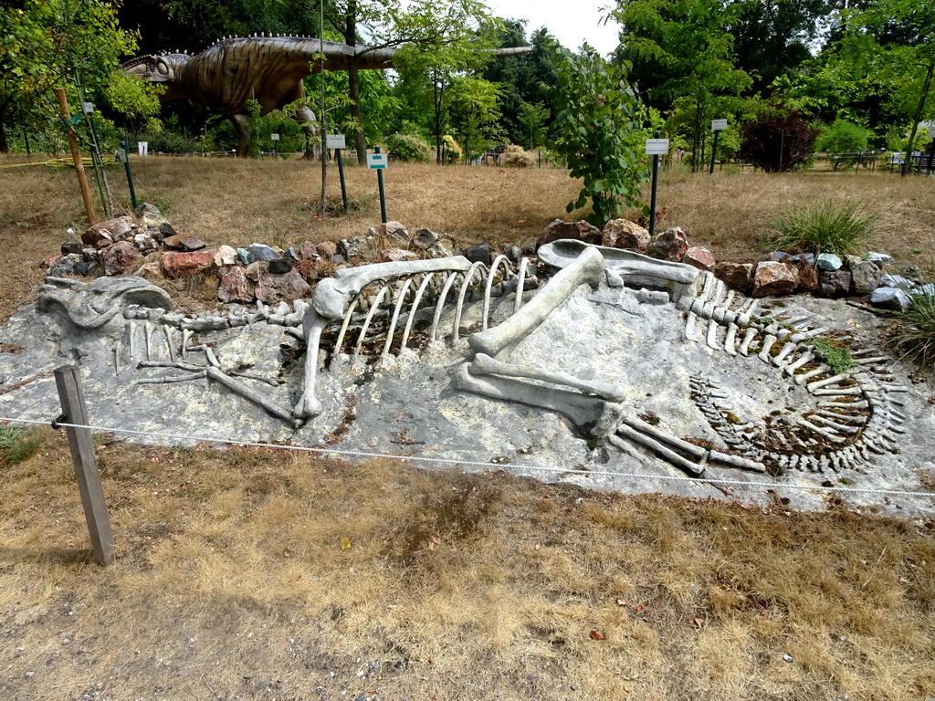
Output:
[[[108,569],[62,436],[0,472],[4,697],[935,694],[931,522],[285,451],[98,458]]]

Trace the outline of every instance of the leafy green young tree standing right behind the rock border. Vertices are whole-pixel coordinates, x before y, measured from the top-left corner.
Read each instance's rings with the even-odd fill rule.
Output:
[[[626,81],[626,65],[608,63],[587,44],[579,53],[557,43],[553,50],[559,59],[553,148],[568,162],[571,177],[583,179],[567,209],[580,209],[590,199],[587,220],[603,226],[641,204],[640,182],[647,172],[635,149],[642,136],[640,99]]]

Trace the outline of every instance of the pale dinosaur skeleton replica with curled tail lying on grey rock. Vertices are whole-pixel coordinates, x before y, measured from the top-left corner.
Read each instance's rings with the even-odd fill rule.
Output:
[[[379,362],[394,349],[402,353],[410,346],[431,346],[446,336],[455,342],[463,333],[463,314],[470,303],[481,311],[474,317],[474,333],[468,332],[468,359],[453,373],[454,387],[561,414],[584,434],[606,438],[624,451],[638,445],[690,476],[703,477],[708,465],[775,474],[789,469],[862,469],[872,464],[874,453],[897,450],[897,435],[904,432],[906,420],[899,397],[907,388],[887,369],[888,358],[856,350],[856,367],[836,372],[816,341],[827,329],[809,328],[805,318],[782,313],[758,316],[758,300],[728,291],[711,274],[688,265],[578,241],[544,246],[539,258],[560,268],[544,285],[527,274],[531,268],[525,259],[514,269],[504,256],[489,268],[460,256],[363,265],[319,282],[310,305],[301,300],[293,308],[285,303],[272,309],[260,305],[255,312],[229,316],[186,317],[167,311],[167,295],[142,279],[81,283],[50,278],[38,308],[64,309],[72,322],[84,327],[99,327],[122,310],[127,323],[114,349],[118,374],[136,366],[163,373],[139,379],[141,384],[218,382],[295,427],[313,420],[323,408],[316,394],[323,365],[320,350],[330,350],[334,371],[334,361],[345,349],[355,359],[363,353]],[[765,421],[744,419],[738,415],[742,409],[731,406],[728,394],[698,367],[689,391],[704,421],[723,441],[716,450],[646,421],[628,406],[626,387],[511,359],[513,350],[580,289],[646,282],[682,310],[683,342],[704,342],[738,363],[758,358],[775,376],[773,383],[799,388],[808,401],[792,414],[783,412]],[[250,368],[223,367],[211,344],[198,337],[254,323],[286,327],[305,341],[304,387],[292,408],[270,399],[262,387],[257,389],[259,384],[268,390],[278,380]]]

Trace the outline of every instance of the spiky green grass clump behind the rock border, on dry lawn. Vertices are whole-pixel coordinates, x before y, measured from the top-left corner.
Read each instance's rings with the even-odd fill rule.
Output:
[[[851,253],[870,238],[880,215],[862,205],[828,200],[811,207],[787,207],[773,215],[774,250],[790,253]]]

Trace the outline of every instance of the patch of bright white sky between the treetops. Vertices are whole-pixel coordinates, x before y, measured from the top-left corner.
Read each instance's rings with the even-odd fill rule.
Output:
[[[526,36],[539,27],[549,32],[567,49],[576,50],[583,41],[607,55],[617,48],[620,25],[614,21],[600,24],[600,7],[612,5],[610,0],[485,0],[497,17],[510,20],[528,20]]]

